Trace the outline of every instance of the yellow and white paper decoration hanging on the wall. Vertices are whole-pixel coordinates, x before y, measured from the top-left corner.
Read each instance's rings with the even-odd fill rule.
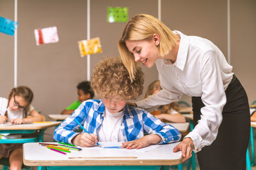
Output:
[[[99,38],[78,41],[78,46],[81,57],[102,52]]]

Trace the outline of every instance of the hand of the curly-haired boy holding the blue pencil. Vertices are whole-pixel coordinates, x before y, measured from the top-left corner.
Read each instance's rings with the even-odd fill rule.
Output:
[[[98,138],[95,134],[83,133],[75,136],[72,139],[72,143],[74,145],[82,146],[82,147],[90,147],[95,145],[98,142]]]

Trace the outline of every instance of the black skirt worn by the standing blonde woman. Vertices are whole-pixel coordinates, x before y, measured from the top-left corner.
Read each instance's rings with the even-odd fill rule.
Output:
[[[197,153],[201,170],[246,169],[246,150],[250,138],[250,108],[246,92],[234,75],[225,90],[227,103],[215,141]],[[201,97],[192,97],[193,124],[200,120],[204,107]]]

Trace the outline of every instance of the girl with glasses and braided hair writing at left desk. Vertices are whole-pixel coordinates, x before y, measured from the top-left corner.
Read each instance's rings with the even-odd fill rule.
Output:
[[[13,88],[8,99],[0,97],[0,124],[26,124],[41,121],[40,114],[31,106],[33,92],[25,86]],[[30,115],[28,118],[27,116]],[[22,144],[0,144],[0,159],[9,158],[10,169],[22,167]]]

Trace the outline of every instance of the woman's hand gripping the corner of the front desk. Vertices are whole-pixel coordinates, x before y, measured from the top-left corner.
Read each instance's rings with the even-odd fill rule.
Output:
[[[191,157],[194,147],[195,146],[191,138],[184,138],[182,142],[173,148],[173,152],[181,150],[183,157],[182,162],[184,162]]]

